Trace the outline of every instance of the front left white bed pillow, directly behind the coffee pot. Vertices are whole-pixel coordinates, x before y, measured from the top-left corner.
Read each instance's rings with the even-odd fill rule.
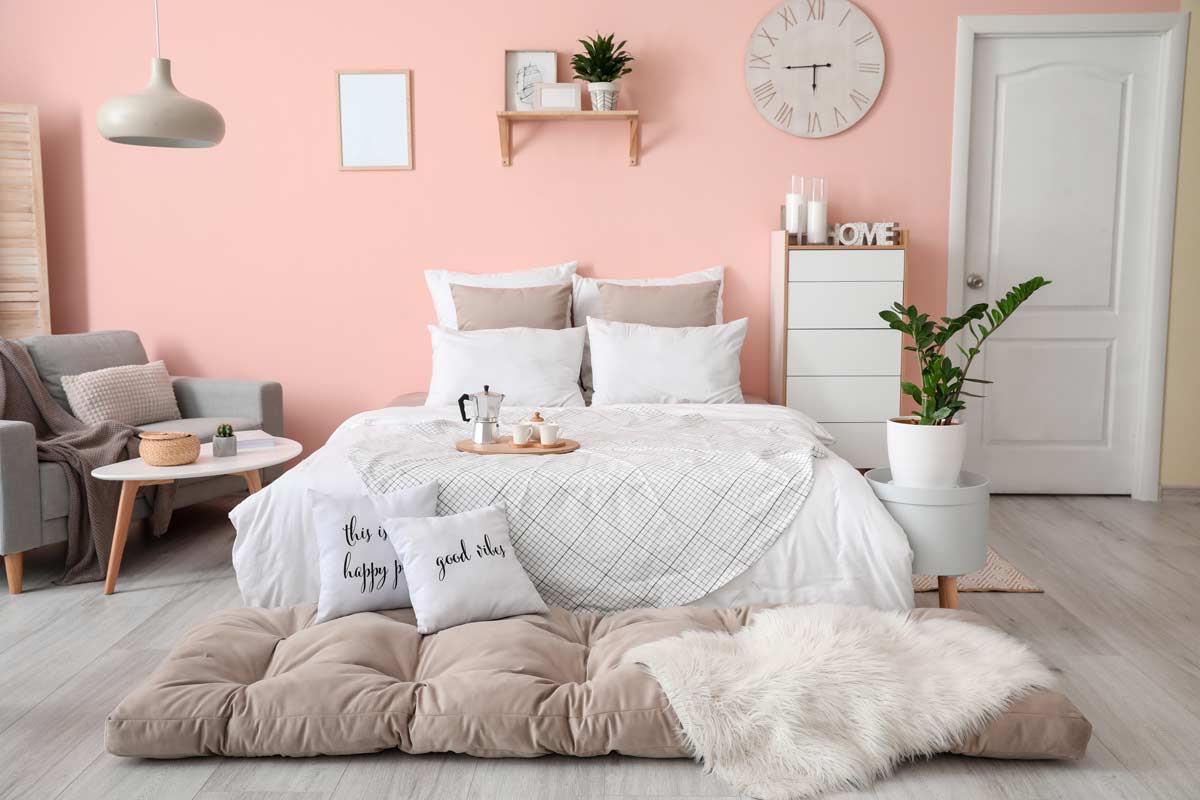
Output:
[[[583,329],[451,331],[430,325],[433,374],[426,405],[452,405],[484,384],[511,405],[583,405]]]

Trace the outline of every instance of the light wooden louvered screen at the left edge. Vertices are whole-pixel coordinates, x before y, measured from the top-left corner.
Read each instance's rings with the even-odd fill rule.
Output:
[[[0,103],[0,337],[50,332],[37,107]]]

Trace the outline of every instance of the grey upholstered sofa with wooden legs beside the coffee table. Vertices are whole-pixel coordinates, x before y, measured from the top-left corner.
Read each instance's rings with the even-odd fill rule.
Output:
[[[146,363],[146,351],[132,331],[102,331],[35,336],[22,339],[50,396],[71,410],[62,377],[94,369]],[[144,425],[144,431],[185,431],[209,441],[220,422],[236,431],[262,428],[283,435],[283,390],[277,383],[174,378],[175,399],[184,419]],[[280,468],[265,470],[264,482]],[[181,481],[175,507],[246,492],[240,476]],[[146,517],[150,505],[138,498],[134,518]],[[24,554],[36,547],[66,541],[67,477],[61,464],[40,463],[34,426],[0,420],[0,555],[8,576],[8,591],[20,593]]]

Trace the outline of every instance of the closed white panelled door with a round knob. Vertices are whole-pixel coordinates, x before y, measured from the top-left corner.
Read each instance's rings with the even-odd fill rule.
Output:
[[[1133,491],[1164,212],[1156,187],[1171,140],[1164,59],[1162,35],[974,41],[948,305],[992,300],[1034,275],[1054,281],[972,368],[995,383],[986,399],[967,398],[967,469],[996,492]]]

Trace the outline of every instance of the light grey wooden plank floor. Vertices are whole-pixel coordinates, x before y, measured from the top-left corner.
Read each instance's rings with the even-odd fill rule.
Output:
[[[100,583],[52,587],[61,557],[31,559],[26,594],[0,596],[0,798],[733,796],[680,760],[108,756],[104,715],[185,628],[239,604],[232,542],[221,507],[181,511],[164,540],[131,545],[112,597]],[[941,757],[853,796],[1200,796],[1200,497],[994,498],[991,542],[1046,594],[964,595],[962,604],[1062,672],[1096,724],[1086,760]]]

